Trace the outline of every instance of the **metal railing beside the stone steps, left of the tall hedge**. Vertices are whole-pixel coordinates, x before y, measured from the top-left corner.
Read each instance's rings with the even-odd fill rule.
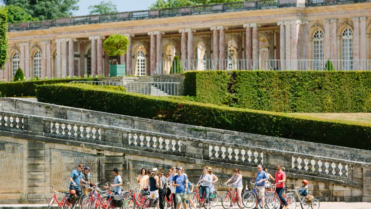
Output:
[[[72,81],[70,83],[86,83],[99,86],[122,86],[128,93],[152,96],[180,96],[183,92],[178,82],[119,82],[119,81]]]

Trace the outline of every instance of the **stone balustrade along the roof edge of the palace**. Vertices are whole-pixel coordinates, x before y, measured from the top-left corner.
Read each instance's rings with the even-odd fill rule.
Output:
[[[70,26],[79,24],[95,24],[115,21],[155,19],[175,16],[189,16],[197,14],[212,14],[231,11],[248,11],[272,9],[280,7],[325,6],[334,4],[361,3],[369,0],[250,0],[223,4],[209,4],[202,6],[176,7],[157,10],[129,11],[112,14],[96,14],[89,16],[62,17],[54,20],[43,20],[26,23],[11,23],[9,31],[37,30],[49,27]]]

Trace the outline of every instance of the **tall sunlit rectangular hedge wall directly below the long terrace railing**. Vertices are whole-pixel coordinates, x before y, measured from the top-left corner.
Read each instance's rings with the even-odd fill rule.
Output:
[[[210,72],[185,73],[185,95],[196,96],[199,102],[276,112],[371,111],[371,72],[213,73],[218,76],[210,76]],[[226,80],[227,83],[220,83]]]

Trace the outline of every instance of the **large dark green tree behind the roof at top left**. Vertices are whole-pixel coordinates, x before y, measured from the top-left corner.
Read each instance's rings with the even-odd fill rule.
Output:
[[[19,6],[39,20],[72,16],[77,11],[79,0],[2,0],[6,6]]]

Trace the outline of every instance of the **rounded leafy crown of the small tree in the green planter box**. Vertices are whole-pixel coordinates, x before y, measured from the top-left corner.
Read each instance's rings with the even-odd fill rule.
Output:
[[[109,56],[122,56],[128,50],[129,39],[121,34],[114,34],[108,37],[103,43],[103,49]]]

